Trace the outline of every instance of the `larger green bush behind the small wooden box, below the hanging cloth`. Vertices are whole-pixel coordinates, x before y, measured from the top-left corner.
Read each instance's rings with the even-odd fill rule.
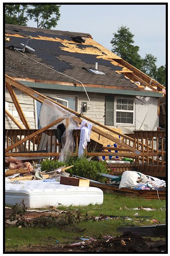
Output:
[[[71,175],[77,175],[90,180],[97,180],[102,182],[106,180],[106,178],[99,175],[99,172],[108,173],[104,162],[93,160],[89,161],[86,157],[68,157],[66,162],[68,166],[74,165],[74,167],[67,170],[67,172],[69,172]]]

